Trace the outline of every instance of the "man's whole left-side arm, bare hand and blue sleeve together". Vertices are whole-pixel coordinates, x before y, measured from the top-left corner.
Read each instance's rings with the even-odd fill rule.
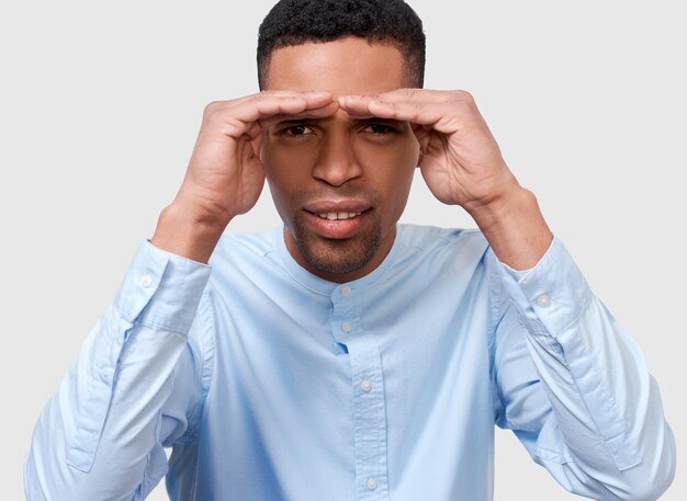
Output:
[[[330,92],[296,91],[205,107],[177,197],[41,414],[24,469],[30,500],[139,500],[165,475],[162,446],[192,439],[206,391],[204,263],[260,195],[263,127],[280,114],[337,110]]]

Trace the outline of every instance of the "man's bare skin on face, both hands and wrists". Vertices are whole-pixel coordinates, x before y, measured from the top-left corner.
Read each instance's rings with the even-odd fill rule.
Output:
[[[267,75],[266,91],[206,106],[156,247],[207,262],[267,178],[293,258],[326,280],[356,280],[387,254],[419,163],[435,196],[462,206],[505,264],[531,267],[549,248],[537,200],[504,161],[473,96],[409,88],[394,46],[348,37],[284,47]],[[353,231],[333,236],[308,209],[341,201],[365,213]]]

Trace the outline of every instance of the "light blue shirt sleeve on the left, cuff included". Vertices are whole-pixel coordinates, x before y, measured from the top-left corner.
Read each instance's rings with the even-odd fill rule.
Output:
[[[162,447],[192,437],[207,390],[210,271],[140,243],[40,415],[27,500],[139,500],[162,478]]]

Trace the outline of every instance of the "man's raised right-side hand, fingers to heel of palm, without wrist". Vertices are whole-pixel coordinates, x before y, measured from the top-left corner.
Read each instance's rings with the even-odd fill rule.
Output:
[[[352,115],[409,122],[420,144],[419,167],[433,195],[468,212],[497,203],[519,186],[472,95],[465,91],[398,89],[342,96]]]

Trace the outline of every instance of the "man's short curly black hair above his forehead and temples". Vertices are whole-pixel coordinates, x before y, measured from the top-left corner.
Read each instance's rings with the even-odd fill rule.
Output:
[[[347,36],[395,45],[405,58],[409,81],[423,87],[423,22],[403,0],[281,0],[258,31],[260,90],[267,86],[270,56],[275,49]]]

